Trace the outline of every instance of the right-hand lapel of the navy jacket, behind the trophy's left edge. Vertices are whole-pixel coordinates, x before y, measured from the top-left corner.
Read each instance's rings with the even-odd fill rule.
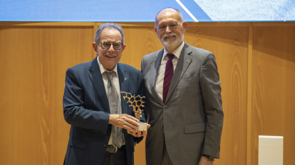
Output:
[[[129,86],[128,86],[128,73],[125,67],[123,67],[120,63],[117,64],[117,71],[118,71],[118,77],[119,77],[119,84],[120,84],[120,94],[121,92],[128,92]],[[124,94],[121,94],[121,108],[122,108],[122,114],[127,113],[127,103],[124,100]]]

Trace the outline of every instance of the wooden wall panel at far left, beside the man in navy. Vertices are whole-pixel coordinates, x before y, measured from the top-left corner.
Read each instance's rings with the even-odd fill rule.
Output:
[[[65,71],[94,58],[91,33],[92,27],[0,28],[0,164],[62,164],[69,137]]]

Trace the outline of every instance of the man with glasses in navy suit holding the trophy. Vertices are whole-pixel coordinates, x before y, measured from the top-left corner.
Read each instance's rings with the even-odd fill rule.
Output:
[[[146,131],[137,131],[140,121],[121,92],[142,95],[142,74],[118,63],[126,46],[119,24],[102,24],[94,40],[97,57],[66,73],[63,107],[71,130],[64,164],[132,165]]]

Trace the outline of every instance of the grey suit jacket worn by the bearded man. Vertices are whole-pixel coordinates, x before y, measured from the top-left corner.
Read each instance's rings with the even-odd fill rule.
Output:
[[[149,128],[146,164],[158,165],[165,141],[174,165],[198,164],[202,154],[219,158],[224,112],[214,55],[185,43],[163,103],[155,89],[164,50],[142,58]]]

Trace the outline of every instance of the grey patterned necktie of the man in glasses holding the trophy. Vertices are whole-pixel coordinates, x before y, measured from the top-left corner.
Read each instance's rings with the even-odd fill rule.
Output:
[[[115,71],[105,72],[108,76],[108,103],[110,105],[110,114],[121,114],[119,112],[119,96],[117,89],[112,82],[112,78],[116,75]],[[123,131],[112,125],[112,145],[121,147],[123,144]]]

